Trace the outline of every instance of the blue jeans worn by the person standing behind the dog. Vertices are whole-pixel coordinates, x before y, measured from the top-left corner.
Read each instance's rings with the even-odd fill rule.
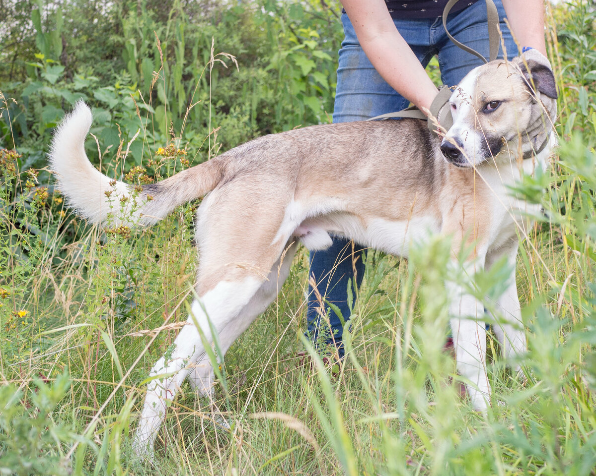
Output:
[[[507,57],[511,59],[517,55],[517,46],[503,21],[505,11],[501,0],[495,0],[495,4],[501,18],[500,27]],[[345,38],[339,51],[333,122],[363,121],[408,107],[409,102],[389,86],[368,61],[345,13],[342,14],[342,23]],[[394,20],[394,23],[424,67],[434,55],[438,55],[441,79],[448,86],[455,86],[471,69],[482,64],[479,58],[451,42],[443,29],[442,17]],[[484,1],[480,0],[449,15],[447,28],[455,39],[488,58],[488,27]],[[498,57],[504,57],[502,46],[499,47]],[[308,336],[319,346],[335,345],[340,356],[343,356],[342,320],[348,321],[350,318],[347,287],[352,287],[352,295],[355,296],[364,276],[364,253],[362,246],[336,238],[331,248],[311,252],[310,255],[309,275],[314,277],[322,299],[337,306],[341,318],[327,305],[325,312],[321,312],[321,299],[318,299],[311,286],[306,315]]]

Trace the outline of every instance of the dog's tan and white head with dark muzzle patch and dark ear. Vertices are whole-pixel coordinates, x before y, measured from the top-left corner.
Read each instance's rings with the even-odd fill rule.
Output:
[[[504,141],[530,148],[550,133],[556,99],[552,71],[537,61],[517,57],[474,68],[449,99],[454,124],[441,151],[458,167],[474,167],[498,154]]]

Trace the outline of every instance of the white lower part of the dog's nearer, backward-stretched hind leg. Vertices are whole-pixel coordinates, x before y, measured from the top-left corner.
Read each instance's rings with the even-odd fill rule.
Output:
[[[245,273],[239,280],[219,281],[199,300],[194,300],[188,324],[182,327],[172,349],[168,349],[166,355],[151,369],[151,380],[134,441],[138,454],[150,455],[153,452],[168,400],[175,397],[191,367],[205,353],[197,325],[208,343],[212,342],[209,321],[222,334],[241,309],[253,299],[263,281],[263,278],[257,278],[254,274]]]

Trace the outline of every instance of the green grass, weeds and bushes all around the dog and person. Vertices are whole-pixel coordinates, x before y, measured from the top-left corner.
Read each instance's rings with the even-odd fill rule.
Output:
[[[434,240],[408,261],[368,253],[337,373],[303,337],[302,250],[277,300],[225,361],[213,349],[215,395],[199,398],[185,384],[169,402],[155,458],[142,462],[129,430],[148,371],[171,349],[193,298],[197,203],[145,230],[88,226],[44,168],[48,131],[63,105],[86,99],[95,105],[86,143],[95,164],[133,184],[160,180],[259,131],[327,121],[334,85],[325,68],[335,61],[327,51],[340,37],[337,26],[325,30],[334,14],[318,2],[219,10],[201,2],[219,18],[203,36],[181,3],[166,18],[151,2],[116,4],[122,37],[108,44],[126,46],[111,72],[79,62],[69,73],[58,44],[68,11],[40,3],[29,76],[0,97],[0,474],[596,474],[593,7],[548,7],[560,149],[547,174],[512,190],[545,212],[520,236],[528,352],[514,363],[524,377],[505,366],[489,333],[488,415],[460,396],[442,350],[449,243]],[[222,32],[230,18],[252,25],[255,38]],[[238,69],[215,53],[212,36],[224,33]],[[278,89],[267,86],[272,77]],[[504,271],[477,275],[483,299],[502,290]],[[305,348],[312,365],[296,358]]]

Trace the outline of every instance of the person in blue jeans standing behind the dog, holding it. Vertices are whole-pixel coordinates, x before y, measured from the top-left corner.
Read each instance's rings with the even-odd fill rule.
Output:
[[[494,2],[502,33],[498,58],[517,56],[515,40],[546,55],[544,0]],[[339,51],[334,123],[401,111],[409,102],[429,114],[438,90],[424,68],[434,55],[438,56],[441,79],[448,86],[455,86],[482,64],[446,35],[442,19],[446,3],[342,0],[345,37]],[[455,39],[489,57],[485,0],[461,0],[446,24]],[[343,327],[350,318],[347,290],[350,286],[356,295],[364,276],[364,253],[357,243],[334,237],[330,248],[310,254],[307,336],[319,352],[331,349],[343,358]]]

